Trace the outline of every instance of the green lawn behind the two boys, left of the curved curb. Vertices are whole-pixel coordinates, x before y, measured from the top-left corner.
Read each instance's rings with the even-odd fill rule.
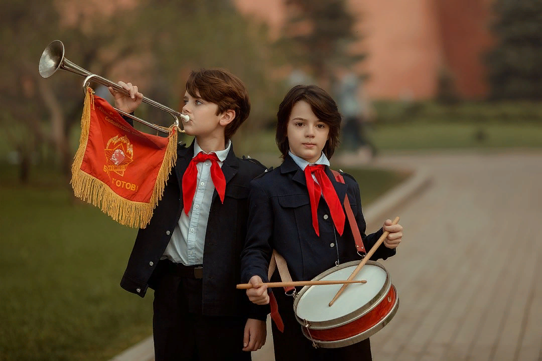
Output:
[[[344,170],[364,206],[406,176]],[[108,360],[152,334],[153,292],[119,286],[136,230],[74,201],[58,175],[37,169],[32,179],[17,185],[15,169],[2,168],[0,359]]]

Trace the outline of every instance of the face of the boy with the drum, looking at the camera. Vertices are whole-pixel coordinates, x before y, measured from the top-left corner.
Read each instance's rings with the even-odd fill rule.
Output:
[[[290,152],[314,163],[320,158],[329,133],[330,127],[314,115],[307,102],[294,104],[286,130]]]

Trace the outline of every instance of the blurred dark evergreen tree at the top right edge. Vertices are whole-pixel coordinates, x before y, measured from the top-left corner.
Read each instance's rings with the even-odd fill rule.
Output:
[[[487,56],[491,98],[542,100],[542,2],[495,0]]]

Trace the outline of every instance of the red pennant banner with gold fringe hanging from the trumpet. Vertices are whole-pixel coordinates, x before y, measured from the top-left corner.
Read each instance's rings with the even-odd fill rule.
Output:
[[[169,137],[139,132],[87,88],[72,165],[75,196],[122,225],[146,227],[177,161],[177,127],[164,129]]]

